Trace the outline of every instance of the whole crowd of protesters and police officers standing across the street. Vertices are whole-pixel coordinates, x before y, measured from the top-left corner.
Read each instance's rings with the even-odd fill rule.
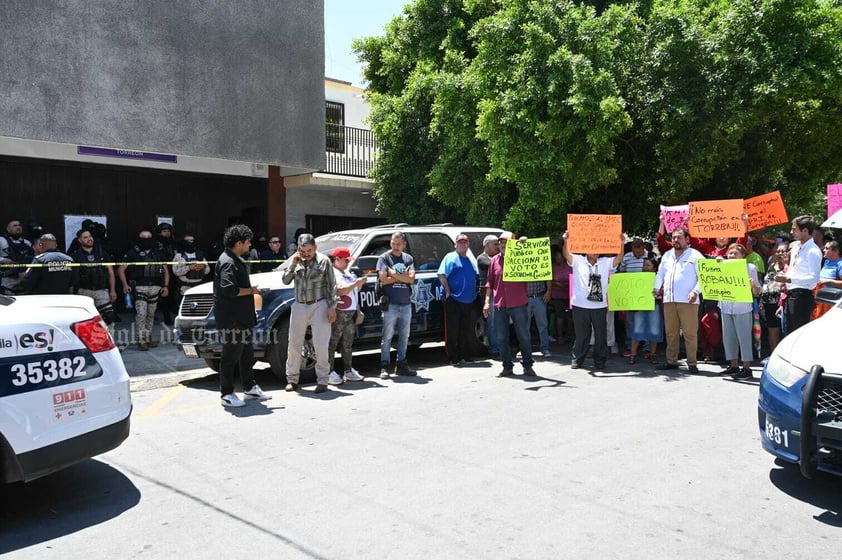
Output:
[[[683,352],[691,373],[698,371],[700,359],[716,360],[725,364],[723,375],[748,379],[753,377],[754,360],[827,311],[827,306],[816,304],[819,287],[842,288],[839,243],[820,231],[810,216],[792,220],[789,234],[774,242],[748,234],[736,239],[696,239],[685,227],[667,232],[661,216],[654,246],[622,236],[611,255],[571,253],[568,235],[565,232],[559,244],[552,246],[552,278],[538,282],[514,282],[503,275],[507,245],[525,238],[512,232],[486,236],[483,252],[474,259],[468,255],[468,237],[457,236],[454,250],[442,259],[437,271],[451,365],[461,367],[481,357],[471,355],[468,343],[474,336],[472,307],[481,305],[488,355],[502,363],[500,377],[514,375],[518,353],[523,374],[535,376],[534,356],[552,357],[550,346],[558,342],[571,343],[570,365],[574,369],[586,367],[588,357],[595,370],[612,367],[608,360],[613,352],[625,356],[630,365],[643,359],[658,370],[670,370],[680,366]],[[125,264],[115,267],[99,224],[84,223],[64,253],[53,234],[39,232],[37,238],[27,239],[21,221],[12,220],[0,237],[2,289],[6,293],[89,296],[109,325],[116,320],[115,308],[122,299],[135,309],[137,347],[147,350],[157,344],[151,336],[156,309],[162,307],[164,322],[171,322],[185,290],[212,277],[217,321],[230,335],[230,341],[223,340],[222,401],[226,406],[242,406],[233,391],[233,378],[235,371],[243,375],[251,369],[241,364],[253,361],[250,333],[254,326],[253,298],[243,296],[257,290],[250,284],[249,273],[277,268],[283,280],[295,287],[286,390],[299,390],[301,349],[308,330],[316,354],[316,392],[363,379],[353,368],[352,353],[355,327],[363,319],[359,290],[366,280],[351,273],[348,247],[322,254],[315,238],[300,230],[295,243],[284,248],[279,237],[260,233],[255,238],[244,225],[229,227],[219,245],[218,255],[211,254],[216,252],[213,246],[203,252],[193,234],[185,233],[176,241],[172,226],[164,223],[141,230],[121,256]],[[376,293],[383,318],[382,379],[415,375],[406,359],[414,262],[405,251],[402,233],[392,236],[390,247],[377,261]],[[754,300],[703,300],[697,273],[702,259],[743,260]],[[213,268],[209,261],[215,262]],[[655,308],[611,311],[608,280],[616,272],[654,273]],[[533,323],[538,352],[533,352]],[[394,338],[397,352],[393,365]],[[658,353],[662,344],[663,356]],[[334,367],[337,350],[341,373]],[[245,377],[244,387],[251,387],[244,393],[247,399],[268,398],[253,383],[253,375],[246,373]]]

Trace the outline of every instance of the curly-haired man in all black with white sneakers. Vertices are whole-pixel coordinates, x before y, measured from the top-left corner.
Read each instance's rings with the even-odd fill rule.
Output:
[[[265,401],[272,397],[254,382],[252,328],[256,323],[254,294],[248,264],[243,256],[251,250],[252,232],[247,226],[233,225],[225,231],[225,251],[216,261],[213,276],[213,305],[216,326],[222,341],[219,387],[222,406],[245,406],[234,392],[234,370],[240,370],[246,399]],[[250,387],[250,389],[246,389]]]

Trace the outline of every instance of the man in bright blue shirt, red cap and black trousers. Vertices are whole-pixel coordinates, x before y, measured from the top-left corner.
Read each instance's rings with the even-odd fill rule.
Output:
[[[468,257],[468,236],[456,236],[456,250],[444,256],[438,276],[444,294],[444,338],[450,364],[470,362],[468,332],[471,308],[477,299],[476,262]]]

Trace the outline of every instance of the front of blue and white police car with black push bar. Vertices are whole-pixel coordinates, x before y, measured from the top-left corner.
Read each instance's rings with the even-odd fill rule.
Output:
[[[842,476],[842,290],[822,288],[817,301],[833,305],[786,336],[760,378],[758,421],[763,449],[812,478]]]

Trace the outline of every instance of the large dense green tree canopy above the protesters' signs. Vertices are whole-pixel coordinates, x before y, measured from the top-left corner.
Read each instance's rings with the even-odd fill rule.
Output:
[[[568,212],[842,182],[834,0],[415,0],[354,49],[390,220],[558,231]]]

